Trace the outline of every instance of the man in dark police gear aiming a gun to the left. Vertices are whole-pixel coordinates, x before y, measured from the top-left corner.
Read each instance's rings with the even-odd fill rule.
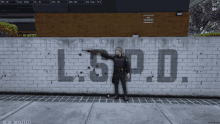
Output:
[[[114,61],[114,72],[113,72],[113,78],[112,78],[112,83],[115,84],[115,97],[114,99],[118,99],[118,84],[119,84],[119,79],[121,80],[122,83],[122,88],[124,91],[124,100],[128,101],[127,97],[127,89],[126,89],[126,81],[125,81],[125,72],[127,72],[127,77],[129,78],[130,75],[130,66],[128,63],[128,60],[125,56],[122,56],[122,48],[117,47],[115,50],[115,56],[109,56],[106,53],[103,53],[101,51],[97,50],[88,50],[88,52],[92,52],[92,54],[98,54],[103,56],[106,59],[111,59]]]

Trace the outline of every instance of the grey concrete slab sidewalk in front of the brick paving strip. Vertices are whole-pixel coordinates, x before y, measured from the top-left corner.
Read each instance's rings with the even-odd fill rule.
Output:
[[[22,120],[31,124],[220,124],[220,106],[0,101],[0,124]]]

